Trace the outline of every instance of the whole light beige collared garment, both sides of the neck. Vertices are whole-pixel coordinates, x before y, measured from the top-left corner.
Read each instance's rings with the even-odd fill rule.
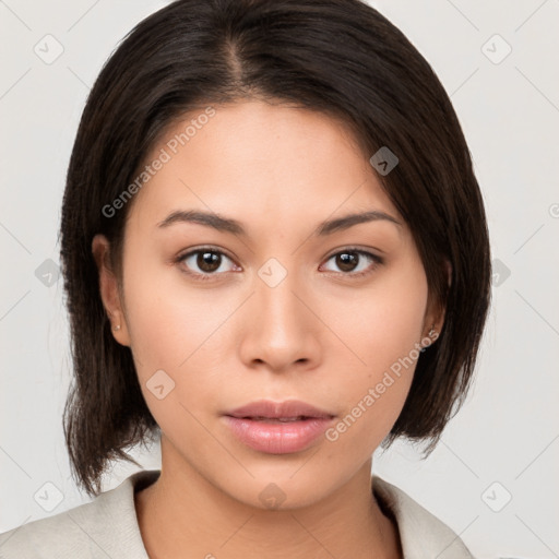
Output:
[[[2,559],[148,559],[134,507],[134,489],[159,469],[136,472],[118,487],[66,512],[0,534]],[[372,477],[377,499],[392,510],[405,559],[472,559],[462,540],[407,493]]]

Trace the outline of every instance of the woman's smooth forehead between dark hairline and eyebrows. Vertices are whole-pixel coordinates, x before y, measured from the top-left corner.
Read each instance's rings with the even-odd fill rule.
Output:
[[[254,224],[272,221],[277,229],[349,211],[378,210],[403,221],[340,119],[263,102],[212,110],[167,127],[144,162],[147,180],[130,219],[156,224],[173,211],[201,209]]]

